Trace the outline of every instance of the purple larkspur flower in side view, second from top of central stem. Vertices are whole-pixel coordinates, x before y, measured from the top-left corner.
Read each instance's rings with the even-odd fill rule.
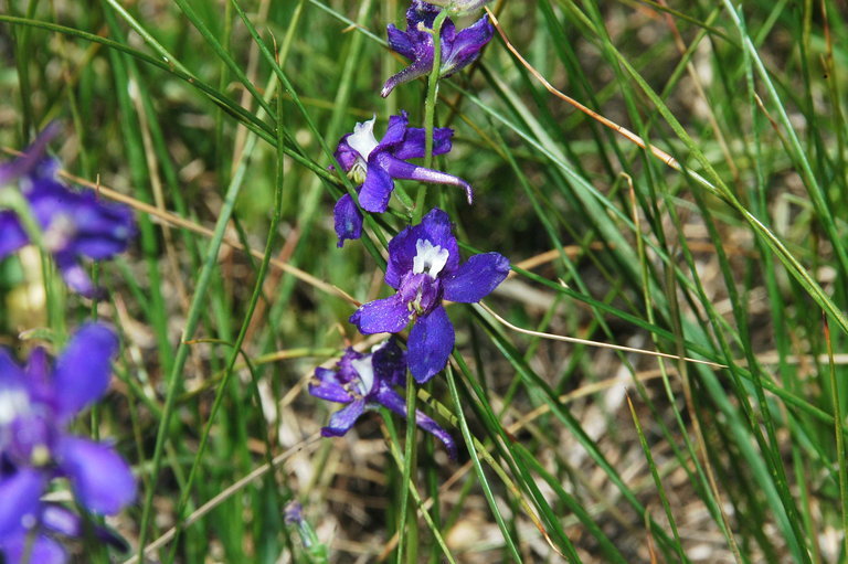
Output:
[[[389,127],[383,138],[374,137],[377,116],[357,124],[352,134],[339,140],[336,159],[347,175],[359,188],[359,205],[368,212],[382,213],[389,207],[389,199],[394,190],[395,180],[416,180],[434,184],[451,184],[465,190],[468,203],[471,203],[471,187],[465,180],[442,172],[406,162],[407,159],[423,158],[425,153],[425,132],[420,127],[409,127],[406,111],[389,118]],[[437,127],[433,130],[433,155],[444,155],[451,150],[453,129]],[[344,240],[359,238],[362,235],[362,214],[350,194],[341,196],[333,211],[338,246]]]

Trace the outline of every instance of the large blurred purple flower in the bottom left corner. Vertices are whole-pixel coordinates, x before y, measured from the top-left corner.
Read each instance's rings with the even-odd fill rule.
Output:
[[[66,478],[80,504],[95,513],[117,513],[135,498],[132,472],[110,446],[65,430],[106,392],[117,348],[110,329],[88,323],[54,368],[40,348],[23,369],[0,350],[0,552],[7,560],[17,562],[21,542],[33,534],[43,558],[32,562],[64,562],[45,533],[71,534],[72,522],[41,499],[54,478]]]

